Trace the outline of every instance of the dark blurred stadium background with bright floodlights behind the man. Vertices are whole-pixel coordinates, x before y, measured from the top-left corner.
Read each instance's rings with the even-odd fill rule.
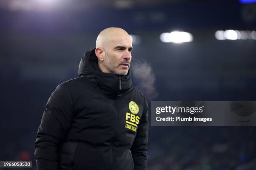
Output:
[[[254,0],[1,0],[0,19],[1,161],[36,169],[51,92],[78,76],[80,58],[108,27],[133,37],[133,85],[149,104],[256,100]],[[256,169],[256,128],[150,127],[148,170],[201,169]]]

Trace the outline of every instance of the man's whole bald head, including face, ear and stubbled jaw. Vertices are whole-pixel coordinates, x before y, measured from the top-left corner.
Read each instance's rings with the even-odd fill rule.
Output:
[[[95,55],[102,72],[126,75],[133,45],[130,35],[122,28],[107,28],[96,40]]]

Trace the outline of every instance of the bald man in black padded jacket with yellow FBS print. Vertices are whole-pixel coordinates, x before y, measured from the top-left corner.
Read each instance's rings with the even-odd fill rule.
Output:
[[[56,87],[38,128],[38,170],[147,169],[148,103],[131,86],[132,50],[125,30],[107,28],[79,78]]]

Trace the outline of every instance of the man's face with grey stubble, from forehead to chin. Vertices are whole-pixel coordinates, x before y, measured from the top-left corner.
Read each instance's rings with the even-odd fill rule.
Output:
[[[111,40],[105,49],[105,57],[102,62],[109,73],[127,75],[131,63],[133,50],[129,35],[116,37]]]

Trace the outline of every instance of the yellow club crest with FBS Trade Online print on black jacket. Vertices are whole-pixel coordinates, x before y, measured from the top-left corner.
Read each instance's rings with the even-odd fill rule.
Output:
[[[126,112],[125,128],[136,132],[138,129],[138,124],[140,122],[140,117],[136,116],[136,114],[138,114],[139,112],[139,107],[136,102],[131,101],[129,103],[129,109],[132,113]]]

